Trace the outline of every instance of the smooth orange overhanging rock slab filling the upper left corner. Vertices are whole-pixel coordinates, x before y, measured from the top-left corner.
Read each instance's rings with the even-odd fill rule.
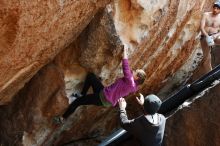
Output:
[[[0,2],[0,104],[68,46],[109,0]]]

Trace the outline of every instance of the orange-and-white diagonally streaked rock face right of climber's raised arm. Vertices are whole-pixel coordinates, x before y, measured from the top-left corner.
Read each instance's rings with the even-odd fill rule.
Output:
[[[124,9],[128,12],[131,11],[131,16],[127,16],[128,20],[122,19],[120,21],[119,19],[118,21],[136,32],[145,28],[147,37],[142,39],[138,49],[135,49],[132,55],[132,60],[135,61],[132,65],[146,70],[148,79],[144,90],[155,92],[161,84],[152,85],[165,80],[179,69],[193,52],[193,46],[198,43],[195,38],[198,35],[200,13],[203,6],[201,4],[204,1],[170,0],[162,1],[162,4],[161,1],[137,1],[141,7],[139,9],[132,7],[132,2],[134,1],[131,3],[126,0],[118,1],[116,7],[123,7],[125,6],[123,3],[128,3],[128,8]],[[137,11],[141,14],[134,19],[132,14],[135,15]],[[127,13],[126,11],[119,13],[119,18],[127,18]],[[130,23],[125,24],[123,20]],[[119,28],[119,34],[121,31],[123,32]],[[131,37],[135,35],[133,33]],[[128,38],[127,34],[120,36]],[[137,35],[136,38],[138,38]],[[137,44],[139,40],[129,39],[127,42],[129,46],[132,46],[132,44]]]

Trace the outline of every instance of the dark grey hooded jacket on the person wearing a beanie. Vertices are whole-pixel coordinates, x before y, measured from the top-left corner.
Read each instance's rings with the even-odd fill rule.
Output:
[[[157,118],[157,124],[152,124],[149,122],[144,115],[132,120],[128,120],[126,111],[120,110],[120,121],[122,128],[135,136],[143,146],[161,146],[164,136],[166,118],[161,114],[157,114]]]

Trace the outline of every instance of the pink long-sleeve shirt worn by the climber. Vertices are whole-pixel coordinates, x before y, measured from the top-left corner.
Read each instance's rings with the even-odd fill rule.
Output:
[[[113,106],[117,104],[120,97],[127,96],[137,91],[137,83],[134,81],[128,59],[122,60],[124,77],[117,79],[113,84],[103,89],[103,93]]]

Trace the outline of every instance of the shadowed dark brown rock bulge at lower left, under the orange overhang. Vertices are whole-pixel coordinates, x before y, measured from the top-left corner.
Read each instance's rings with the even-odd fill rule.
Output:
[[[61,70],[47,65],[25,85],[11,104],[1,106],[2,145],[40,145],[52,130],[54,115],[68,104]],[[6,128],[7,127],[7,128]],[[23,140],[22,140],[23,137]]]

